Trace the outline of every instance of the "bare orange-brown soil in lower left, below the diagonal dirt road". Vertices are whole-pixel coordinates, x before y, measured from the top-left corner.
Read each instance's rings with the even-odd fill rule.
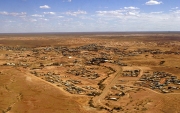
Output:
[[[22,71],[1,66],[0,110],[2,113],[89,113],[59,88]]]

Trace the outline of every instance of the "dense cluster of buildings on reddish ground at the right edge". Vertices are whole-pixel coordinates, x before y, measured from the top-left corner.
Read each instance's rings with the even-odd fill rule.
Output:
[[[144,73],[139,79],[140,85],[151,88],[153,90],[159,90],[162,93],[169,93],[173,90],[178,90],[180,85],[180,79],[166,72],[153,72]]]

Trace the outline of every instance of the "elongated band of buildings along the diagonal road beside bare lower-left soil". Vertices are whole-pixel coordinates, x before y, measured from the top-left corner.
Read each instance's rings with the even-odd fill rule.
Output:
[[[88,96],[96,96],[99,95],[100,92],[98,89],[92,87],[92,86],[82,86],[80,80],[73,80],[73,79],[68,79],[68,80],[63,80],[59,74],[55,73],[39,73],[36,71],[32,71],[31,74],[34,74],[35,76],[48,81],[52,84],[57,85],[58,87],[63,87],[64,90],[71,94],[79,94],[79,95],[88,95]],[[65,77],[66,78],[66,77]],[[79,85],[79,86],[78,86]]]

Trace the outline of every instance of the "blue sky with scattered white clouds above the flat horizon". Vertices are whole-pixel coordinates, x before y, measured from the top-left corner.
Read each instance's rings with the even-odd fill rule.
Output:
[[[0,0],[0,33],[180,31],[179,0]]]

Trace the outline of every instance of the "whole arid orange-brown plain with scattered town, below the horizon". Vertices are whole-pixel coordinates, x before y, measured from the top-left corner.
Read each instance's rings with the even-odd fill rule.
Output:
[[[180,33],[0,35],[2,113],[178,113]]]

